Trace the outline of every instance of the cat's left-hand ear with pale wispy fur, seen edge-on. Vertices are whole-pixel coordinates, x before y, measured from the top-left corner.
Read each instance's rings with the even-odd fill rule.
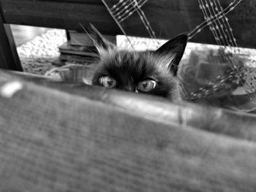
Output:
[[[114,45],[113,43],[105,39],[105,37],[101,33],[99,33],[97,28],[95,28],[92,24],[90,25],[91,25],[92,34],[94,34],[96,37],[93,39],[94,45],[97,47],[98,50],[101,50],[101,49],[108,50],[116,47],[116,45]]]

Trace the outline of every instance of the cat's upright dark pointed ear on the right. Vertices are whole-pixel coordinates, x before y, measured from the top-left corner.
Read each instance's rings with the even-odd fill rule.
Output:
[[[177,74],[178,64],[184,54],[184,50],[187,45],[187,39],[187,34],[180,34],[177,37],[170,39],[155,51],[155,53],[158,55],[163,55],[167,58],[170,58],[168,68],[171,72],[173,72],[173,75]]]

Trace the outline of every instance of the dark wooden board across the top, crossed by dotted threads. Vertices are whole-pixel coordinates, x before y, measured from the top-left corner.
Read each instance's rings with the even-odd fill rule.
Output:
[[[108,4],[114,2],[117,0],[108,1]],[[221,4],[225,8],[230,4],[230,1],[222,0]],[[256,16],[253,11],[248,11],[255,7],[255,4],[256,2],[244,0],[228,15],[230,26],[233,27],[233,33],[241,47],[256,47],[256,39],[254,38]],[[102,34],[121,34],[120,29],[100,0],[1,0],[1,5],[6,23],[79,31],[82,30],[79,23],[84,26],[93,23]],[[192,31],[204,21],[196,0],[151,0],[143,6],[143,11],[157,37],[163,39],[170,39],[182,32]],[[148,32],[137,14],[125,20],[122,26],[129,35],[148,37]],[[192,41],[216,43],[208,28],[195,36]]]

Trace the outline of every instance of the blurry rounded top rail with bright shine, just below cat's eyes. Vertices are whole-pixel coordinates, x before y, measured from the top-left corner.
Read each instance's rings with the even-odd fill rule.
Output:
[[[127,110],[127,112],[135,113],[143,118],[157,120],[167,124],[175,123],[179,126],[200,128],[205,131],[256,142],[256,115],[253,114],[206,107],[185,101],[178,104],[170,103],[167,99],[160,97],[156,98],[154,96],[92,87],[77,83],[52,82],[50,79],[45,80],[42,77],[31,77],[31,75],[28,76],[27,74],[18,73],[15,77],[12,74],[0,74],[2,77],[11,79],[22,77],[22,79],[32,81],[37,85],[54,88],[95,101],[102,101],[105,104],[113,105],[121,110]]]

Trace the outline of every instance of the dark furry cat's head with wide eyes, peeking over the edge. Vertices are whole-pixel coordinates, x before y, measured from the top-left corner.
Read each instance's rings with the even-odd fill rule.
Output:
[[[170,39],[155,51],[118,50],[92,26],[99,51],[93,85],[181,99],[178,64],[187,45],[187,35]]]

